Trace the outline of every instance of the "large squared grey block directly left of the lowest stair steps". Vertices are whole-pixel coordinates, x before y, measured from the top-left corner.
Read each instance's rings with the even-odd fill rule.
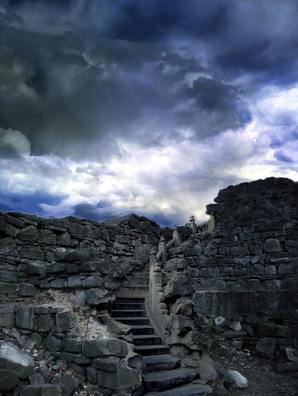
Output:
[[[98,371],[98,385],[112,390],[139,387],[142,378],[137,370],[130,367],[121,367],[118,371]]]

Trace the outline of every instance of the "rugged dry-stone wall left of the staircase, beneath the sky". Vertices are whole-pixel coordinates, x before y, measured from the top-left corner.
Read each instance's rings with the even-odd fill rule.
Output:
[[[145,217],[128,215],[98,223],[75,217],[42,219],[0,214],[0,326],[13,325],[17,303],[38,290],[74,294],[80,305],[104,308],[132,270],[141,269],[161,229]]]

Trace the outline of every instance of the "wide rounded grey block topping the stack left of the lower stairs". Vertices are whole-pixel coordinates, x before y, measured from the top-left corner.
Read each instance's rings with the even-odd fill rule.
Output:
[[[128,346],[117,338],[105,338],[83,341],[82,352],[88,357],[119,356],[125,357]]]

